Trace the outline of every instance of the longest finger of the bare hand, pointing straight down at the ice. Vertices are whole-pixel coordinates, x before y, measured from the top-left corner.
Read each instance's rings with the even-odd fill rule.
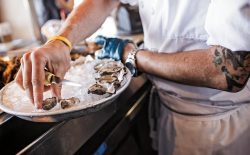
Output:
[[[33,97],[35,106],[38,109],[42,108],[43,92],[44,92],[44,81],[45,81],[45,65],[46,62],[43,60],[41,53],[38,51],[31,54],[32,61],[32,86],[33,86]]]

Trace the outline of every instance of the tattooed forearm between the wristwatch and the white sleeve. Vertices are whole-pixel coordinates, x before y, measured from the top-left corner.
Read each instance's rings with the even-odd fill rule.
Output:
[[[246,52],[232,53],[222,47],[177,52],[154,53],[147,50],[136,55],[139,70],[178,83],[236,92],[249,77]]]

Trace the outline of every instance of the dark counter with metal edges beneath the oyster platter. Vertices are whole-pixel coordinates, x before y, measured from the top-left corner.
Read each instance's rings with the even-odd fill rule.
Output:
[[[34,123],[12,117],[0,126],[0,153],[63,155],[112,152],[115,146],[110,142],[117,141],[118,144],[121,136],[126,135],[129,123],[146,103],[150,87],[145,75],[133,78],[120,97],[104,109],[68,121]]]

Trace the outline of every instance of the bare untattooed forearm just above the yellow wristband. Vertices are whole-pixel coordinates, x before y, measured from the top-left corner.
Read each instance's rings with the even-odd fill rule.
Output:
[[[116,0],[85,0],[72,11],[59,35],[78,43],[94,33],[118,4]]]

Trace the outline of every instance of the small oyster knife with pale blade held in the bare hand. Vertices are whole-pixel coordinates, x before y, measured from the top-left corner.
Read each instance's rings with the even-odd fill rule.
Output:
[[[49,86],[51,84],[62,84],[68,86],[82,87],[80,83],[67,79],[60,79],[55,74],[49,72],[48,70],[45,70],[45,85]]]

